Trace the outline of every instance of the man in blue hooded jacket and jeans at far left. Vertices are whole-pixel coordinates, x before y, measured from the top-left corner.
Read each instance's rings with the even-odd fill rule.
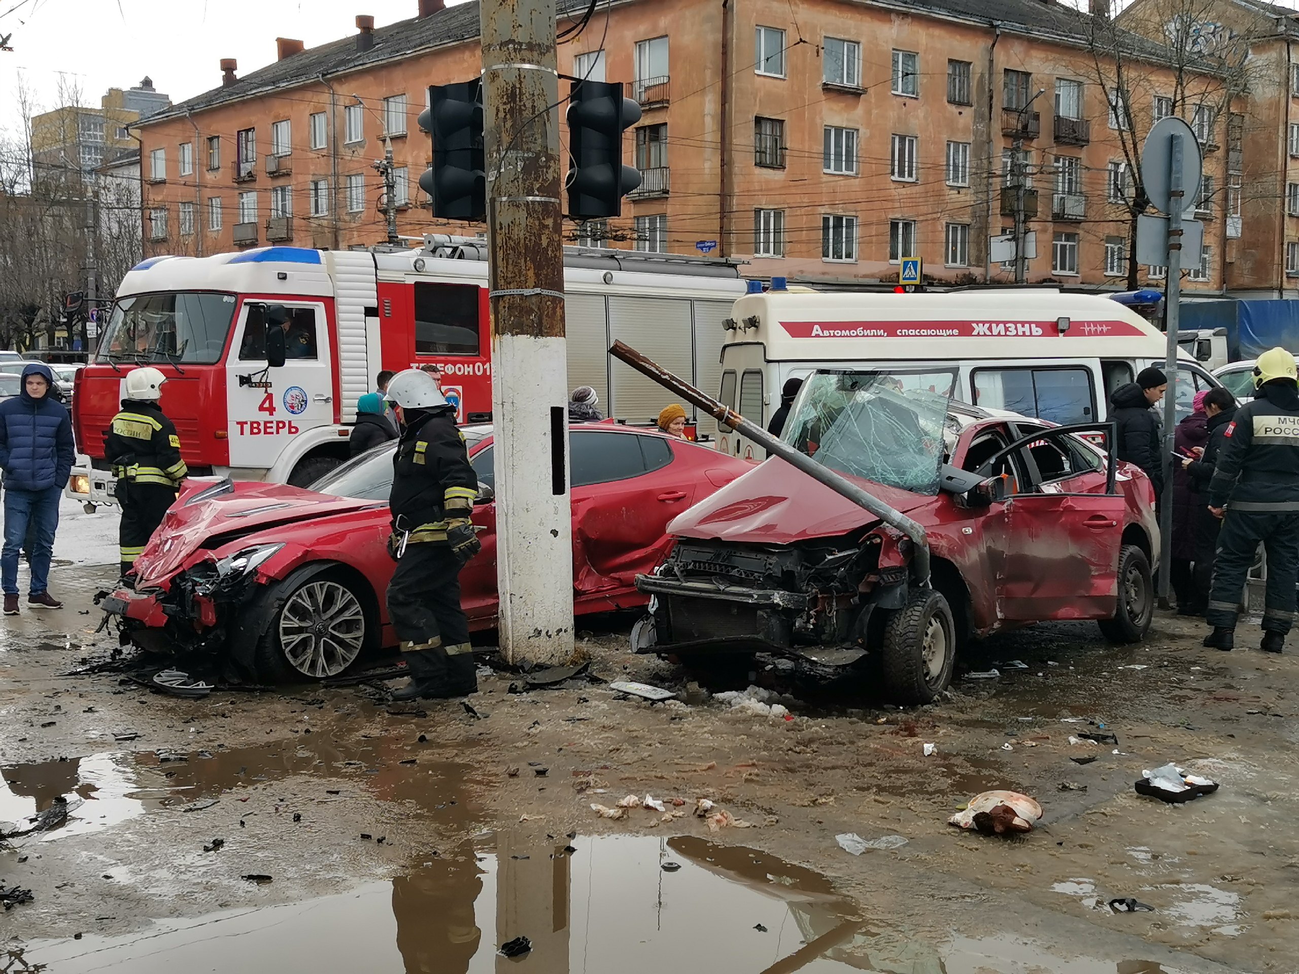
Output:
[[[35,529],[31,548],[31,590],[27,605],[61,609],[47,590],[49,556],[58,527],[58,499],[73,469],[73,425],[68,410],[49,395],[55,377],[49,366],[31,362],[22,370],[17,396],[0,403],[0,468],[4,469],[4,549],[0,583],[4,614],[18,614],[18,552]]]

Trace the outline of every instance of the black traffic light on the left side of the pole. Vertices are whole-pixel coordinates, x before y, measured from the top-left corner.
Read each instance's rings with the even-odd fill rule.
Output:
[[[433,216],[486,219],[482,81],[430,84],[420,127],[433,136],[433,166],[420,177],[420,188],[433,197]]]

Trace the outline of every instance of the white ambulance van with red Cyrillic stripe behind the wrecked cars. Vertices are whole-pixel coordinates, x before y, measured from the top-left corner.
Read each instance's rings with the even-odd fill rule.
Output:
[[[718,399],[766,426],[781,387],[816,369],[883,368],[903,386],[1057,423],[1102,422],[1109,393],[1163,368],[1164,334],[1117,301],[1055,288],[950,293],[770,290],[735,301],[724,325]],[[1220,383],[1179,351],[1177,417]],[[712,423],[709,423],[712,426]],[[713,430],[709,429],[709,432]],[[763,457],[720,429],[717,449]]]

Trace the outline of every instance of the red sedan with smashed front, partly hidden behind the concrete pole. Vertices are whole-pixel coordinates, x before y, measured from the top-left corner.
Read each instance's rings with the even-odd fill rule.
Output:
[[[482,552],[460,573],[470,629],[496,623],[496,503],[490,426],[461,427],[481,492]],[[134,590],[101,600],[123,640],[207,652],[260,679],[334,677],[396,645],[385,591],[392,448],[310,490],[194,482],[135,562]],[[578,614],[644,605],[635,588],[672,547],[668,521],[752,468],[707,447],[612,423],[569,436],[573,600]]]

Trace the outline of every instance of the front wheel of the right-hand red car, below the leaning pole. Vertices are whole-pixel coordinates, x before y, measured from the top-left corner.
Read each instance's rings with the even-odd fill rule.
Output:
[[[885,622],[881,653],[885,693],[894,704],[927,704],[952,682],[956,623],[947,599],[914,590]]]

